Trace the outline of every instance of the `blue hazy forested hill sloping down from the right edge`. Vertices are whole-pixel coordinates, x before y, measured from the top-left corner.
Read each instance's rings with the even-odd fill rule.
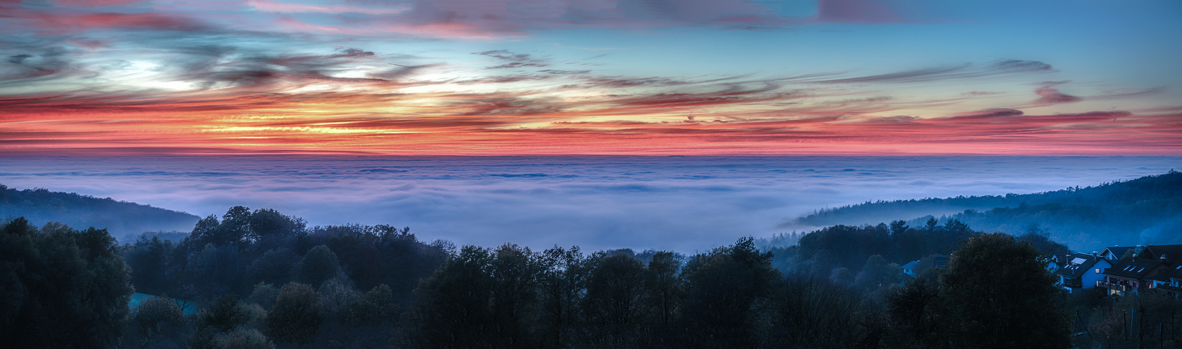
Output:
[[[1037,225],[1079,251],[1182,243],[1182,172],[1027,195],[868,202],[821,210],[794,223],[878,224],[897,217],[921,222],[928,215],[959,219],[982,231],[1021,233]]]

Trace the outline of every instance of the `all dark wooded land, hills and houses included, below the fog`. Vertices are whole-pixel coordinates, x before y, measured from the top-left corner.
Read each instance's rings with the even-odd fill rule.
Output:
[[[1182,345],[1174,171],[826,209],[797,219],[832,225],[694,253],[457,246],[272,209],[197,218],[0,189],[0,342],[12,348]],[[948,206],[976,209],[849,222]],[[178,224],[193,226],[110,233]],[[1103,248],[1072,249],[1053,229]],[[1147,229],[1165,232],[1115,243]]]

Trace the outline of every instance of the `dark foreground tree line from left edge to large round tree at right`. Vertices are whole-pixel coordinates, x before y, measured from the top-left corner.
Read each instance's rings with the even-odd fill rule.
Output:
[[[7,277],[0,307],[8,307],[0,340],[71,347],[58,344],[78,338],[70,343],[121,348],[1069,345],[1063,296],[1034,244],[960,223],[892,225],[832,226],[769,251],[742,238],[683,256],[514,244],[456,249],[421,242],[405,228],[307,228],[274,210],[242,206],[201,219],[180,243],[144,237],[123,246],[102,230],[12,219],[0,237],[0,277]],[[85,248],[35,252],[61,241]],[[948,266],[915,278],[895,272],[898,261],[940,249],[956,251]],[[99,262],[53,266],[64,256]],[[41,258],[58,262],[12,269]],[[852,282],[833,277],[843,268]],[[27,321],[69,314],[45,308],[73,295],[38,287],[67,282],[48,275],[98,271],[110,285],[76,287],[109,299],[70,307],[102,317],[79,316],[70,328]],[[132,287],[160,297],[132,311]],[[30,335],[45,329],[57,332]]]

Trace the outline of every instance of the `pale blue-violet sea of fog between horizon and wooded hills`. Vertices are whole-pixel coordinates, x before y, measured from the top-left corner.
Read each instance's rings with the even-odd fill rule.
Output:
[[[704,251],[868,200],[1030,193],[1182,169],[1180,157],[2,157],[0,183],[422,239]],[[914,218],[914,217],[900,217]]]

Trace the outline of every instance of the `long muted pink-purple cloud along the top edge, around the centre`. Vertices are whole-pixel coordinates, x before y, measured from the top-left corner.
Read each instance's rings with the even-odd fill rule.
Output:
[[[409,8],[404,2],[382,1],[353,1],[357,6],[287,5],[267,0],[252,0],[251,4],[272,12],[336,15],[356,11],[340,20],[359,32],[457,39],[522,37],[530,31],[561,28],[774,27],[792,22],[769,8],[745,0],[423,0],[413,2]],[[361,11],[363,8],[372,11]]]

